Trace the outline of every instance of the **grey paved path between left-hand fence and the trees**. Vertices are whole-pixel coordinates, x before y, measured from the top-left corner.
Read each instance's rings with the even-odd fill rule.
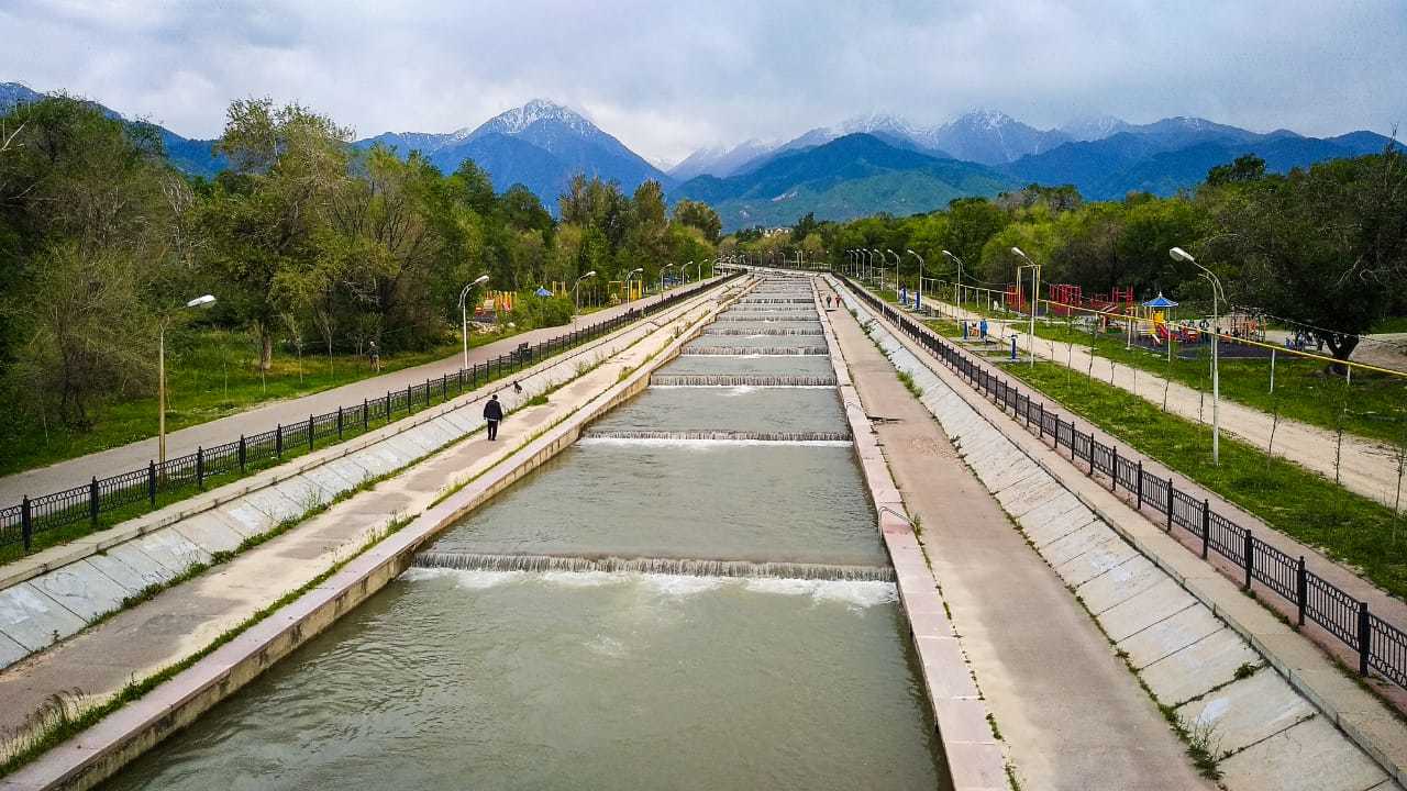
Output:
[[[578,317],[577,327],[585,328],[599,321],[620,315],[630,308],[640,308],[653,304],[661,298],[661,296],[656,296]],[[567,329],[567,327],[546,327],[542,329],[530,329],[511,338],[504,338],[502,341],[494,341],[492,343],[470,349],[469,362],[481,363],[487,359],[497,357],[498,355],[512,352],[519,343],[537,343],[540,341],[547,341],[549,338],[561,335]],[[324,390],[321,393],[312,393],[300,398],[287,398],[283,401],[260,404],[243,412],[167,434],[166,453],[167,457],[180,456],[183,453],[194,453],[197,446],[231,442],[238,439],[239,435],[259,434],[262,431],[270,431],[279,424],[297,422],[307,419],[308,415],[321,415],[336,411],[338,405],[356,404],[363,398],[380,398],[381,396],[386,396],[388,390],[405,390],[407,386],[422,384],[426,379],[439,379],[442,374],[456,373],[461,365],[463,355],[454,355],[439,362],[363,379],[360,381],[343,384],[342,387],[333,387],[332,390]],[[136,470],[145,467],[146,463],[155,457],[156,438],[152,436],[149,439],[141,439],[118,448],[89,453],[87,456],[79,456],[77,459],[49,464],[48,467],[6,476],[0,479],[0,505],[18,502],[25,495],[35,497],[79,486],[87,483],[89,479],[94,476],[106,477],[117,473],[125,473],[128,470]]]

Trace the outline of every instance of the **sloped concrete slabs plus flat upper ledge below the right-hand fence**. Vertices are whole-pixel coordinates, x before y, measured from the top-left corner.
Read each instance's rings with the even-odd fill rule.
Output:
[[[1204,729],[1225,787],[1401,788],[1393,778],[1407,777],[1407,732],[1370,692],[886,327],[874,325],[877,342],[924,388],[923,404],[967,463],[1158,701]]]

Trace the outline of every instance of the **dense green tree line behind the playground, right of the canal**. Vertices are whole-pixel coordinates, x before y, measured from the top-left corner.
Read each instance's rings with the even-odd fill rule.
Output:
[[[808,215],[789,234],[754,228],[723,241],[725,251],[754,260],[803,255],[833,266],[848,249],[892,249],[910,287],[919,272],[912,249],[927,262],[926,277],[957,280],[957,265],[943,255],[950,251],[964,260],[967,284],[1005,289],[1024,263],[1013,246],[1043,265],[1045,283],[1078,284],[1086,296],[1133,287],[1141,298],[1162,291],[1210,307],[1199,270],[1168,255],[1180,246],[1221,279],[1233,304],[1314,328],[1348,359],[1359,334],[1407,315],[1407,158],[1392,146],[1273,175],[1248,155],[1166,198],[1130,193],[1096,203],[1071,186],[1033,184],[927,214],[843,224]]]

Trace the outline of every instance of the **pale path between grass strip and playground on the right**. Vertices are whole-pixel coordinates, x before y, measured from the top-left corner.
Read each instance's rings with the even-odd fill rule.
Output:
[[[938,310],[946,315],[953,315],[955,310],[947,303],[931,301],[929,304],[941,305]],[[981,318],[969,311],[961,311],[958,315],[965,315],[972,321]],[[1007,343],[1014,334],[1020,349],[1029,353],[1030,336],[1023,332],[1026,324],[989,319],[989,325],[991,332],[1006,338]],[[1162,405],[1166,403],[1166,411],[1189,421],[1211,422],[1211,396],[1209,393],[1169,383],[1147,370],[1114,363],[1097,355],[1093,359],[1093,367],[1090,367],[1088,346],[1037,338],[1036,356],[1081,373],[1089,372],[1095,379],[1134,393],[1151,404]],[[1404,386],[1404,393],[1407,393],[1407,386]],[[1272,428],[1273,446],[1271,445]],[[1263,411],[1225,398],[1221,400],[1221,431],[1259,449],[1269,449],[1273,455],[1289,459],[1330,480],[1335,477],[1338,438],[1332,431],[1285,418],[1275,424],[1272,417]],[[1407,481],[1399,477],[1400,472],[1397,449],[1373,439],[1344,435],[1338,480],[1349,491],[1393,507],[1397,502],[1399,486],[1407,486]],[[1403,494],[1407,495],[1407,490]],[[1407,502],[1407,497],[1403,498],[1403,502]]]

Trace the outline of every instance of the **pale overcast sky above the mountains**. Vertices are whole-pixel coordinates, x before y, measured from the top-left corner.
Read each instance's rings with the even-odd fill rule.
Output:
[[[867,113],[1407,127],[1404,0],[0,0],[0,82],[186,137],[245,96],[357,137],[554,99],[654,160]]]

